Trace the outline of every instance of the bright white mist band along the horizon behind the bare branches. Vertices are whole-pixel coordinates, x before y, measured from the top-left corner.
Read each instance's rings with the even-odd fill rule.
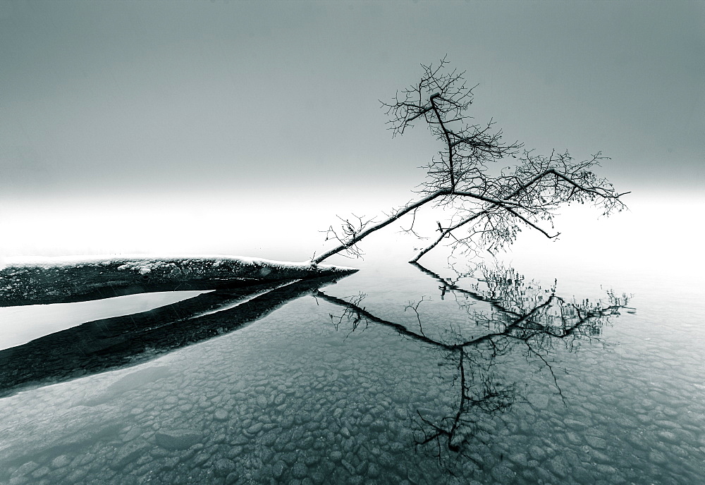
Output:
[[[325,230],[340,225],[338,216],[381,220],[384,212],[410,198],[412,194],[398,190],[343,194],[321,190],[319,195],[290,192],[278,197],[135,196],[5,203],[0,208],[0,257],[239,254],[302,261],[327,247]],[[555,269],[594,259],[608,262],[605,266],[613,269],[666,273],[702,263],[697,247],[705,196],[652,192],[627,196],[626,202],[630,210],[611,217],[600,217],[598,209],[587,206],[566,207],[555,222],[553,232],[561,233],[557,241],[525,228],[501,257],[533,254],[536,259],[540,255],[541,266]],[[433,210],[419,211],[415,228],[431,237],[441,216]],[[378,246],[383,256],[385,247],[413,254],[423,241],[400,234],[410,222],[410,216],[405,216],[367,238],[360,245],[367,258],[376,259]]]

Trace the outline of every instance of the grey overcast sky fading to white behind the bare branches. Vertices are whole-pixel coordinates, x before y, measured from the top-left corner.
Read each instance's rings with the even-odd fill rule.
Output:
[[[403,204],[441,147],[379,100],[446,55],[505,139],[705,193],[702,1],[0,0],[0,252],[264,251]]]

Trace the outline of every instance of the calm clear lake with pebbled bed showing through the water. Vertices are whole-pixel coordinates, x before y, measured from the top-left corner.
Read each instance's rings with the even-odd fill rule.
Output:
[[[1,398],[0,483],[702,483],[705,205],[655,207],[479,267],[378,241],[238,330]],[[0,348],[195,295],[5,309]]]

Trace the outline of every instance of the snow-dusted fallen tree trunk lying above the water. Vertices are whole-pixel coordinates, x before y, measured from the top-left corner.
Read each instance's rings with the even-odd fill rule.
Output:
[[[82,302],[175,290],[238,288],[266,281],[350,274],[348,268],[236,257],[114,258],[0,270],[0,306]]]

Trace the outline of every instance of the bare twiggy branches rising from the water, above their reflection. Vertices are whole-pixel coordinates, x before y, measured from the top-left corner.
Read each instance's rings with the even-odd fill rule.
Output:
[[[618,193],[592,171],[607,157],[598,152],[575,161],[568,152],[541,155],[519,142],[505,143],[493,120],[472,123],[467,110],[474,87],[467,87],[464,72],[448,72],[446,58],[438,66],[422,64],[422,68],[417,84],[397,92],[392,102],[381,102],[393,136],[403,135],[415,123],[425,123],[443,145],[424,167],[427,178],[417,190],[420,198],[394,209],[381,222],[341,218],[341,229],[331,226],[326,231],[326,239],[337,240],[338,245],[314,257],[312,263],[338,253],[359,257],[357,243],[362,239],[406,214],[413,214],[415,222],[416,211],[427,204],[447,209],[450,216],[437,222],[439,235],[412,262],[444,239],[450,240],[453,250],[475,253],[510,245],[527,227],[556,238],[560,233],[549,231],[563,204],[588,202],[601,207],[604,215],[625,208],[620,197],[629,192]],[[509,159],[513,166],[503,166]],[[405,231],[416,235],[414,222]]]

